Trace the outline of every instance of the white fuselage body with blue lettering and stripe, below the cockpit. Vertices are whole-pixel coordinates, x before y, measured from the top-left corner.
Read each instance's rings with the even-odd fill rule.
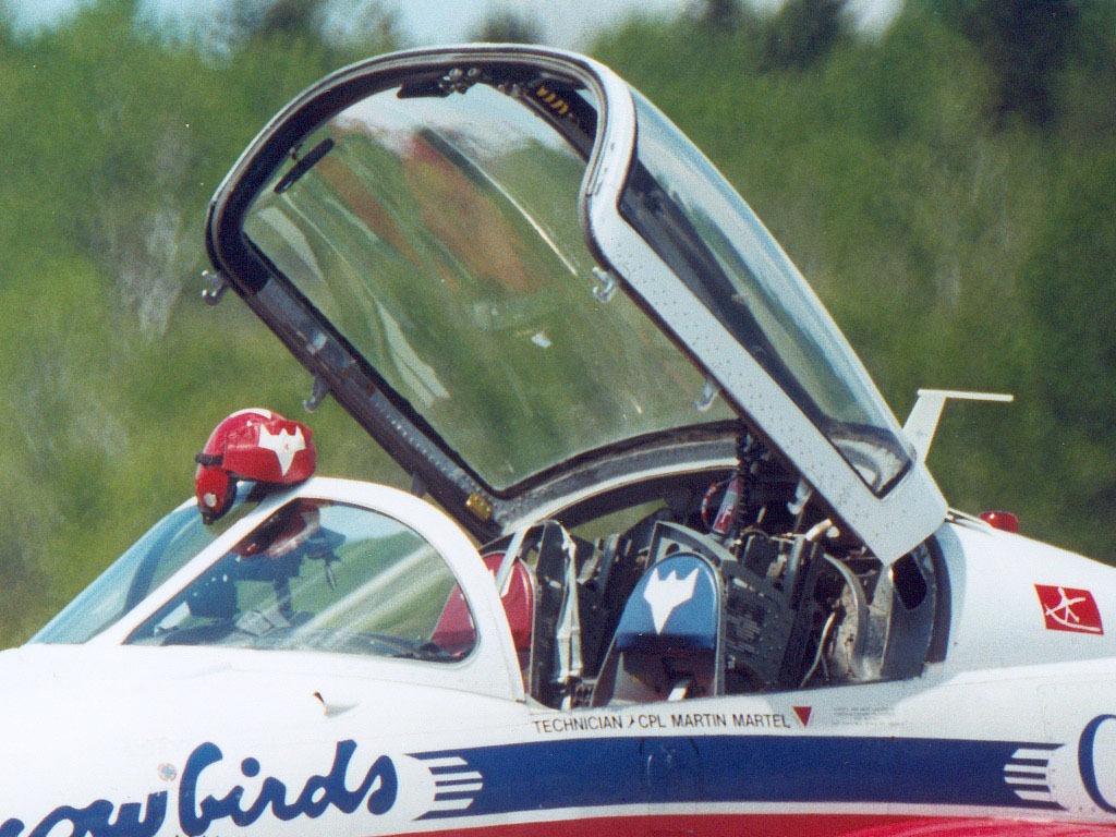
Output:
[[[408,661],[8,651],[0,835],[1116,822],[1116,573],[966,521],[937,538],[947,653],[902,682],[561,712],[408,683]],[[1065,607],[1047,627],[1036,585],[1088,590],[1103,632]]]

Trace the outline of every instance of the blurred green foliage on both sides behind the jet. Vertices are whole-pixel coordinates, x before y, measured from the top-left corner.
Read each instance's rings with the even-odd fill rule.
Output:
[[[1075,6],[1036,119],[943,11],[981,1],[911,0],[879,36],[827,23],[804,52],[722,0],[593,51],[752,203],[897,415],[920,386],[1016,394],[946,408],[930,464],[952,504],[1116,561],[1116,6]],[[200,301],[205,205],[282,104],[400,38],[369,19],[338,45],[310,0],[229,26],[200,46],[128,0],[0,23],[0,644],[190,496],[221,417],[302,416],[306,373],[234,299]],[[310,422],[324,473],[402,484],[336,405]]]

